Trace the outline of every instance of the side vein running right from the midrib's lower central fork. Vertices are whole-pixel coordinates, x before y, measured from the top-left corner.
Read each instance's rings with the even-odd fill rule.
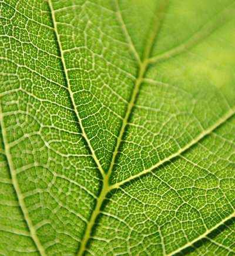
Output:
[[[153,165],[151,168],[146,169],[145,171],[140,172],[139,174],[133,175],[130,178],[125,179],[124,181],[120,181],[119,183],[116,183],[114,185],[112,185],[112,188],[118,188],[120,185],[131,181],[132,179],[135,179],[137,177],[140,177],[143,174],[146,174],[147,172],[151,172],[153,171],[153,169],[155,169],[156,167],[159,167],[159,165],[164,164],[164,162],[169,161],[170,159],[179,156],[180,154],[182,154],[184,151],[186,151],[187,149],[189,149],[190,147],[192,147],[194,144],[196,144],[197,142],[200,141],[200,139],[204,138],[206,135],[210,134],[214,129],[216,129],[217,127],[219,127],[221,124],[223,124],[224,122],[227,121],[227,119],[229,119],[230,117],[232,117],[235,114],[235,107],[229,109],[229,111],[219,119],[218,122],[215,122],[210,128],[206,129],[204,132],[202,132],[199,136],[197,136],[196,138],[192,139],[192,141],[187,144],[185,147],[183,147],[182,149],[180,149],[179,151],[177,151],[176,153],[170,155],[170,157],[167,157],[165,159],[163,159],[162,161],[158,162],[156,165]]]

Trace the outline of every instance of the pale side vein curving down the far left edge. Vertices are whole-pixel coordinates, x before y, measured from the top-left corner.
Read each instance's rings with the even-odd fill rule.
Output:
[[[24,214],[25,221],[28,224],[29,232],[31,234],[31,237],[32,237],[33,241],[35,242],[36,247],[38,248],[39,253],[41,254],[41,256],[46,256],[45,250],[42,247],[42,244],[38,239],[38,236],[36,234],[36,230],[33,227],[31,218],[29,217],[29,214],[28,214],[25,202],[24,202],[24,198],[22,197],[22,194],[21,194],[21,189],[19,188],[19,185],[18,185],[18,182],[17,182],[17,178],[16,178],[17,174],[16,174],[16,171],[14,169],[14,165],[13,165],[13,162],[12,162],[12,159],[11,159],[10,148],[8,146],[8,141],[7,141],[7,138],[6,138],[6,131],[5,131],[5,125],[4,125],[4,115],[2,115],[1,104],[0,104],[0,125],[2,127],[2,138],[3,138],[3,141],[4,141],[4,145],[5,145],[6,159],[8,161],[9,169],[10,169],[10,172],[11,172],[12,184],[15,188],[16,195],[18,197],[19,206],[21,207],[21,210]]]

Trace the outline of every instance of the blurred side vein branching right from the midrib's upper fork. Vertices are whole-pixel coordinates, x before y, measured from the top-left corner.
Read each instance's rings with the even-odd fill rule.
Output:
[[[234,4],[234,3],[233,3]],[[232,4],[232,5],[233,5]],[[226,22],[230,21],[231,18],[234,17],[234,10],[224,9],[220,14],[216,15],[212,20],[207,22],[206,25],[203,26],[202,29],[196,32],[192,37],[187,39],[187,41],[183,42],[176,46],[173,49],[170,49],[163,54],[154,56],[149,59],[149,64],[154,64],[160,61],[166,61],[167,59],[172,58],[173,56],[179,55],[180,53],[187,51],[187,49],[192,48],[194,45],[202,41],[204,38],[209,36],[213,31],[219,29],[220,26],[224,25]]]

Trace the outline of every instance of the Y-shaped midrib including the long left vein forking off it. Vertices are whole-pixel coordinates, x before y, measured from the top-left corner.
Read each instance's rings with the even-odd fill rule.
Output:
[[[100,172],[101,172],[101,174],[103,176],[102,191],[101,191],[101,194],[100,194],[100,196],[98,198],[98,201],[96,203],[96,207],[95,207],[94,211],[92,212],[90,220],[89,220],[89,222],[88,222],[88,224],[86,226],[85,234],[83,235],[83,238],[82,238],[82,241],[81,241],[80,248],[79,248],[77,256],[82,256],[83,252],[85,252],[86,244],[87,244],[87,242],[88,242],[88,240],[90,238],[90,233],[92,231],[92,227],[95,224],[96,217],[100,213],[100,207],[102,205],[102,202],[105,199],[106,194],[110,191],[110,189],[112,189],[112,187],[109,186],[109,177],[110,177],[110,174],[111,174],[111,170],[112,170],[113,165],[114,165],[115,157],[116,157],[117,150],[119,148],[119,145],[120,145],[120,142],[121,142],[121,139],[122,139],[122,136],[123,136],[123,132],[125,131],[125,127],[127,125],[127,120],[129,118],[130,112],[132,111],[133,105],[135,103],[136,95],[139,92],[139,87],[140,87],[140,85],[142,83],[142,79],[143,79],[143,77],[145,75],[146,68],[149,65],[149,62],[148,62],[149,61],[149,55],[150,55],[150,52],[151,52],[151,49],[152,49],[152,46],[153,46],[153,42],[154,42],[154,40],[156,38],[157,31],[159,30],[160,22],[162,21],[162,18],[163,18],[163,15],[164,15],[164,11],[165,11],[165,8],[167,7],[168,2],[169,2],[169,0],[163,0],[161,2],[159,10],[158,10],[158,12],[157,12],[157,14],[155,16],[154,21],[153,21],[152,28],[150,29],[149,38],[147,39],[146,46],[145,46],[145,51],[144,51],[144,54],[143,54],[143,61],[140,62],[140,64],[139,64],[139,74],[138,74],[138,77],[136,79],[133,91],[132,91],[132,97],[130,99],[129,104],[127,105],[127,111],[126,111],[126,114],[125,114],[125,118],[123,119],[123,123],[122,123],[122,127],[120,129],[119,137],[117,138],[117,145],[115,147],[115,152],[113,153],[113,157],[112,157],[112,161],[111,161],[111,164],[110,164],[110,168],[109,168],[108,174],[105,174],[105,172],[103,171],[103,169],[102,169],[102,167],[101,167],[101,165],[99,163],[99,160],[98,160],[98,158],[95,155],[95,151],[93,150],[92,146],[90,145],[90,141],[89,141],[89,139],[86,136],[86,133],[85,133],[84,128],[82,126],[82,121],[81,121],[81,119],[79,117],[78,110],[75,108],[75,112],[76,112],[76,115],[78,117],[80,127],[82,129],[83,137],[88,142],[89,148],[90,148],[90,150],[92,152],[93,159],[95,159],[95,162],[98,165],[98,168],[99,168],[99,170],[100,170]],[[69,90],[70,98],[72,99],[72,103],[75,106],[75,101],[73,99],[73,94],[72,94],[72,91],[70,89],[68,72],[66,70],[65,59],[63,57],[62,45],[61,45],[61,42],[59,40],[59,34],[58,34],[58,29],[57,29],[56,20],[55,20],[55,13],[53,11],[53,6],[52,6],[52,3],[51,3],[51,0],[49,0],[49,6],[51,8],[53,25],[54,25],[54,28],[55,28],[55,34],[56,34],[56,37],[57,37],[57,40],[58,40],[59,49],[61,51],[63,68],[65,70],[66,79],[68,81],[68,90]]]

